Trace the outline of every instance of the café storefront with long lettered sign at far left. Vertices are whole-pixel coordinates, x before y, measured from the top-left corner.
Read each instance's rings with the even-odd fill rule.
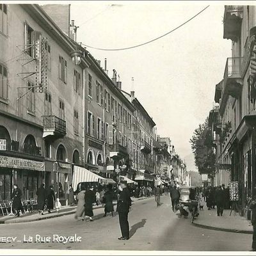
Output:
[[[45,179],[45,163],[31,159],[0,156],[0,200],[10,200],[13,184],[22,191],[22,199],[36,197]]]

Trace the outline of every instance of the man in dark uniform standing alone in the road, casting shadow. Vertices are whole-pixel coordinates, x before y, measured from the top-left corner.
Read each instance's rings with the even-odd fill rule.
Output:
[[[122,189],[118,202],[116,211],[119,216],[120,229],[122,232],[122,236],[119,237],[119,240],[128,240],[129,239],[129,222],[128,222],[128,212],[132,204],[132,200],[130,197],[130,191],[126,187],[126,180],[121,180],[120,187]]]

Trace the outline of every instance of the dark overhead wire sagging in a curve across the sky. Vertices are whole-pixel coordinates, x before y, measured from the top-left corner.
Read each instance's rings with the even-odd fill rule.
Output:
[[[105,49],[105,48],[99,48],[99,47],[93,47],[91,45],[86,45],[86,44],[83,44],[81,43],[82,45],[84,45],[85,47],[89,47],[89,48],[92,48],[92,49],[96,49],[96,50],[100,50],[100,51],[124,51],[124,50],[128,50],[128,49],[133,49],[133,48],[136,48],[136,47],[140,47],[142,45],[146,45],[146,44],[150,44],[166,35],[169,35],[170,33],[172,33],[173,31],[181,28],[182,26],[184,26],[185,24],[187,24],[189,21],[195,19],[195,17],[197,17],[198,15],[200,15],[200,13],[204,12],[210,5],[206,6],[203,10],[201,10],[200,12],[196,13],[196,15],[194,15],[193,17],[191,17],[190,19],[186,20],[185,22],[183,22],[182,24],[180,24],[179,26],[177,26],[176,28],[172,29],[171,31],[165,33],[164,35],[161,35],[161,36],[158,36],[157,38],[154,38],[150,41],[147,41],[145,43],[142,43],[142,44],[138,44],[138,45],[133,45],[133,46],[130,46],[130,47],[124,47],[124,48],[118,48],[118,49]]]

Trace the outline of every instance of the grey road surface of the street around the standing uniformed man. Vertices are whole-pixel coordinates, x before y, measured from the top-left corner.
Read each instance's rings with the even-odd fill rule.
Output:
[[[161,197],[160,207],[156,206],[154,198],[132,204],[132,211],[129,212],[131,238],[128,241],[118,240],[120,227],[116,212],[114,217],[108,215],[105,218],[103,209],[95,210],[94,214],[93,222],[77,221],[74,215],[67,215],[1,225],[1,239],[17,237],[15,242],[1,241],[1,249],[248,251],[251,248],[250,234],[198,228],[189,219],[178,218],[172,212],[170,195]],[[23,243],[24,235],[26,243]],[[29,237],[33,242],[28,241]],[[35,243],[36,237],[42,242]],[[49,243],[45,240],[47,237],[50,237]]]

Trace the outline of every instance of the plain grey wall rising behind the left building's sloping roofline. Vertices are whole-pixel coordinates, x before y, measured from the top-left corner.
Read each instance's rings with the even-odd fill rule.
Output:
[[[45,4],[41,7],[56,25],[70,36],[70,4]]]

